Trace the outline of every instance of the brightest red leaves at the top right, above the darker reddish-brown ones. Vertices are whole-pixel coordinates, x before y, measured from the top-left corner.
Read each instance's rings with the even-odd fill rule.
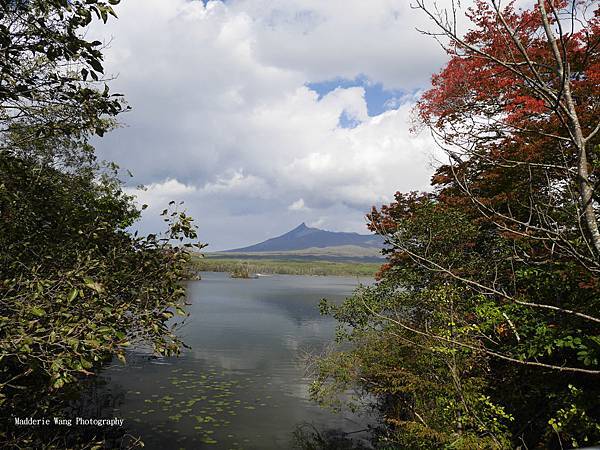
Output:
[[[560,12],[561,8],[570,7],[567,3],[571,2],[555,1],[553,6]],[[597,2],[578,2],[582,9],[591,9],[594,4],[596,10],[585,26],[572,33],[570,29],[564,30],[562,51],[571,70],[578,109],[585,117],[597,119],[600,115],[597,103],[600,94],[600,15]],[[560,90],[563,81],[556,74],[552,48],[544,33],[539,9],[516,10],[513,2],[502,14],[506,26],[489,1],[476,1],[468,13],[475,28],[462,41],[451,43],[448,49],[450,62],[432,77],[432,88],[419,102],[420,118],[444,130],[446,137],[456,138],[462,131],[448,133],[447,127],[464,124],[467,117],[492,119],[495,125],[489,128],[499,131],[514,132],[513,127],[538,129],[548,125],[551,129],[560,128],[554,122],[556,118],[552,117],[556,105],[528,83],[528,80],[541,77],[548,88]],[[507,27],[514,30],[526,54],[521,52]],[[593,120],[582,121],[584,127],[594,124]]]

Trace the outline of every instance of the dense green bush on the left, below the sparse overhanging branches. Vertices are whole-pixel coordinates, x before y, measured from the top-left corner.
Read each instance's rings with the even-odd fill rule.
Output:
[[[168,325],[182,311],[195,238],[183,213],[169,233],[134,237],[139,216],[107,174],[65,173],[0,154],[0,408],[51,393],[135,343],[176,354]],[[38,410],[37,413],[42,413]]]

